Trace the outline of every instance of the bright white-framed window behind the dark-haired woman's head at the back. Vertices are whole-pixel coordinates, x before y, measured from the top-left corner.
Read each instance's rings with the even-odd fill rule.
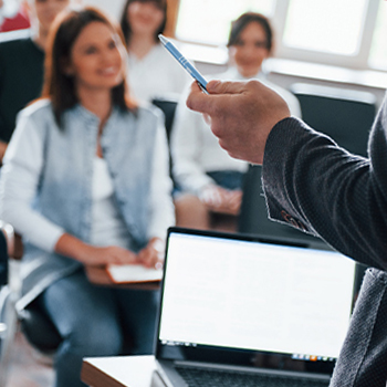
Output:
[[[271,18],[278,57],[387,71],[384,0],[179,0],[176,38],[222,45],[245,11]]]

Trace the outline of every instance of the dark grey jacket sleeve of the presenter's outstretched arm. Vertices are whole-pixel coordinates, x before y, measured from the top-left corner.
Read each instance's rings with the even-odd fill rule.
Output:
[[[386,105],[369,158],[354,156],[297,118],[274,126],[262,180],[269,216],[323,238],[342,253],[387,269]]]

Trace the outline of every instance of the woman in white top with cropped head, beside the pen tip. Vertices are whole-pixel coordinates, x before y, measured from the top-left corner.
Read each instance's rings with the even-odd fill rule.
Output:
[[[189,76],[159,43],[167,21],[166,0],[127,0],[121,28],[128,51],[128,82],[134,97],[178,98]]]

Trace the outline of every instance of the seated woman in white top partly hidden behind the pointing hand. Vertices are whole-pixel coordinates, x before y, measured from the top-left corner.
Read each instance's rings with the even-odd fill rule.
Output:
[[[262,73],[262,64],[273,50],[273,31],[265,17],[252,12],[239,17],[231,25],[228,48],[230,69],[208,80],[258,79],[286,100],[293,115],[301,116],[296,97],[270,83]],[[238,216],[248,164],[231,158],[219,146],[202,115],[186,107],[186,95],[175,116],[171,155],[174,177],[181,190],[175,197],[178,226],[209,229],[213,215]],[[231,223],[224,223],[227,231],[236,229],[237,218],[231,219]]]

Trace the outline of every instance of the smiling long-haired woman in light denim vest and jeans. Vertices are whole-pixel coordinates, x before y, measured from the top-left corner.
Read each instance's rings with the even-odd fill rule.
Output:
[[[61,14],[43,98],[19,115],[1,174],[1,219],[24,238],[22,296],[63,337],[55,386],[83,386],[84,356],[150,354],[157,291],[100,286],[87,266],[159,265],[174,223],[168,150],[157,109],[127,98],[121,29],[101,11]]]

